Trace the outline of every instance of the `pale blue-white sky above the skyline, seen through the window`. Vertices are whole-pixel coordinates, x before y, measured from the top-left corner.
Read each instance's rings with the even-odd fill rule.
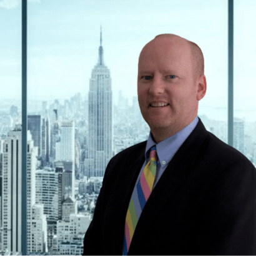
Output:
[[[234,107],[256,110],[256,1],[235,0],[234,6]],[[119,90],[137,96],[142,47],[157,34],[172,33],[194,41],[204,53],[207,92],[200,105],[227,107],[227,14],[224,0],[29,0],[27,97],[87,96],[102,26],[115,98]],[[21,0],[0,0],[0,56],[0,99],[19,98]]]

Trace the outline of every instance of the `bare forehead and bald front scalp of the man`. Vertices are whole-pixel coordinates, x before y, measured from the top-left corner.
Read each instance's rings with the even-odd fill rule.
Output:
[[[191,62],[189,43],[185,39],[158,37],[147,43],[139,56],[139,69],[161,66],[184,69]]]

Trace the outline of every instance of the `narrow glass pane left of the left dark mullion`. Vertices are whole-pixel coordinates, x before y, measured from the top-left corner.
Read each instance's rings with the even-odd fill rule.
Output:
[[[0,1],[0,252],[21,252],[21,6]]]

